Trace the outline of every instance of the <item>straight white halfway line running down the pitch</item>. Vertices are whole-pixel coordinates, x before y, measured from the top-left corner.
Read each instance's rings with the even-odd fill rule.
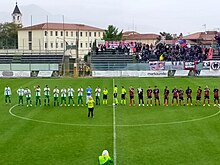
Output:
[[[115,80],[113,79],[113,93],[114,93]],[[115,102],[113,94],[113,156],[114,156],[114,165],[117,165],[117,152],[116,152],[116,115],[115,115]]]

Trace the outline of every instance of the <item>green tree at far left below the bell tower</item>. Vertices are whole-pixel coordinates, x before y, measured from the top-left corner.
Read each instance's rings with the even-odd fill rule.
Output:
[[[0,23],[0,49],[17,49],[18,30],[21,28],[14,23]]]

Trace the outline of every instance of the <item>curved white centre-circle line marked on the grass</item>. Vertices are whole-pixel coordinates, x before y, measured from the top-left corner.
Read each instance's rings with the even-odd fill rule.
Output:
[[[18,104],[12,106],[10,109],[9,109],[9,113],[16,117],[16,118],[19,118],[19,119],[22,119],[22,120],[27,120],[27,121],[32,121],[32,122],[38,122],[38,123],[44,123],[44,124],[53,124],[53,125],[65,125],[65,126],[77,126],[77,127],[112,127],[112,125],[90,125],[90,124],[73,124],[73,123],[59,123],[59,122],[51,122],[51,121],[45,121],[45,120],[37,120],[37,119],[31,119],[31,118],[27,118],[27,117],[23,117],[23,116],[19,116],[19,115],[16,115],[12,112],[12,110],[18,106]],[[213,118],[217,115],[220,114],[220,107],[218,106],[219,108],[219,111],[212,114],[212,115],[209,115],[209,116],[205,116],[205,117],[201,117],[201,118],[197,118],[197,119],[190,119],[190,120],[183,120],[183,121],[174,121],[174,122],[165,122],[165,123],[148,123],[148,124],[133,124],[133,125],[129,125],[129,124],[119,124],[119,125],[116,125],[115,123],[115,127],[147,127],[147,126],[160,126],[160,125],[175,125],[175,124],[183,124],[183,123],[190,123],[190,122],[196,122],[196,121],[201,121],[201,120],[205,120],[205,119],[209,119],[209,118]],[[113,110],[113,113],[115,113],[115,109]],[[115,114],[113,114],[115,115]],[[114,120],[114,119],[113,119]],[[113,129],[114,129],[114,121],[113,121]],[[116,130],[116,128],[115,128]],[[114,130],[113,130],[114,131]],[[116,135],[115,135],[116,137]],[[114,135],[113,135],[113,138],[114,138]],[[116,144],[116,143],[115,143]]]

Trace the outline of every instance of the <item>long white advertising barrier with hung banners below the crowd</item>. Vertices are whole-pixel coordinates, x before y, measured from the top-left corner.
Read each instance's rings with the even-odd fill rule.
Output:
[[[140,64],[143,65],[143,64]],[[220,61],[164,62],[146,63],[146,70],[92,71],[93,77],[187,77],[220,76]],[[140,68],[140,67],[138,67]],[[143,67],[142,67],[143,68]]]

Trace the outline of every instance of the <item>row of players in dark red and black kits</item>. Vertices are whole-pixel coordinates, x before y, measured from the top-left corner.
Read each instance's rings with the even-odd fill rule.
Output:
[[[129,94],[130,94],[130,106],[132,106],[133,104],[135,104],[135,100],[134,100],[134,88],[131,86],[129,89]],[[201,103],[201,97],[202,97],[202,88],[201,86],[199,86],[196,90],[196,105],[198,105],[198,103]],[[176,87],[174,87],[172,89],[172,102],[171,105],[174,104],[174,102],[176,102],[176,105],[192,105],[192,89],[190,87],[188,87],[185,91],[186,93],[186,103],[184,101],[184,90],[182,88],[177,89]],[[137,89],[137,93],[138,93],[138,100],[139,100],[139,106],[142,104],[144,106],[144,97],[143,97],[143,89],[140,87]],[[149,87],[147,89],[147,106],[150,105],[152,106],[152,98],[154,97],[154,104],[155,105],[160,105],[160,98],[159,98],[159,89],[157,86],[155,86],[154,89],[151,89],[151,87]],[[164,105],[168,106],[168,101],[169,101],[169,94],[170,94],[170,90],[168,89],[168,87],[166,86],[164,89]],[[216,106],[217,104],[219,104],[219,89],[218,88],[214,88],[213,90],[213,94],[214,94],[214,106]],[[210,106],[210,89],[208,88],[208,86],[205,87],[204,89],[204,100],[203,100],[203,106],[206,105],[206,100],[208,103],[208,106]]]

